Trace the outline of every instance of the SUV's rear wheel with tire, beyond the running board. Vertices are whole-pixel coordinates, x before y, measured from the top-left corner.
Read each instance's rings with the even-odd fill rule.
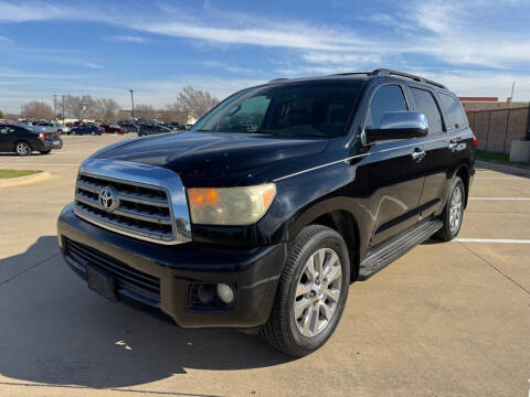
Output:
[[[436,232],[434,237],[443,242],[451,242],[458,235],[462,226],[462,219],[464,217],[465,202],[466,189],[464,187],[464,182],[459,176],[455,176],[451,185],[451,193],[447,198],[447,203],[445,204],[444,211],[439,215],[439,219],[444,223],[444,226]]]

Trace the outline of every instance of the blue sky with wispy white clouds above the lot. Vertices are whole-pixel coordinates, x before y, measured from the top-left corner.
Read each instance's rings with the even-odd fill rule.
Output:
[[[388,67],[530,100],[529,0],[0,0],[0,109],[53,94],[163,107],[276,77]]]

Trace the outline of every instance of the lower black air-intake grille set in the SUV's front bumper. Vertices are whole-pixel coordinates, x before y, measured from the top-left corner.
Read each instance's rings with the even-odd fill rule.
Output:
[[[118,291],[125,289],[134,294],[147,298],[151,304],[160,302],[160,280],[158,277],[137,270],[115,258],[70,238],[65,239],[65,254],[83,267],[112,277]]]

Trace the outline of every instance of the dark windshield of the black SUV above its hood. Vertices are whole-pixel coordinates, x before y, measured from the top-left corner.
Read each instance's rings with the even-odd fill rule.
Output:
[[[321,81],[251,88],[221,103],[192,131],[337,137],[344,131],[362,83]]]

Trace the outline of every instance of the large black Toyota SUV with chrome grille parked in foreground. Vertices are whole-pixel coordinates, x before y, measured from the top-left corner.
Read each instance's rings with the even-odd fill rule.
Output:
[[[303,356],[332,334],[351,281],[458,234],[475,147],[438,83],[389,69],[277,79],[189,132],[93,154],[59,242],[107,298]]]

